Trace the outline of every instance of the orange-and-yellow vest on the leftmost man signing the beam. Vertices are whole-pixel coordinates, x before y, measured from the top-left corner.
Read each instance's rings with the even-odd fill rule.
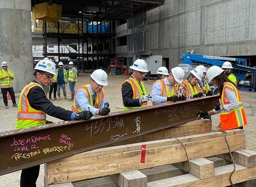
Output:
[[[46,113],[32,108],[28,102],[27,94],[34,86],[39,86],[43,89],[38,83],[31,82],[21,91],[18,102],[16,129],[46,124]]]

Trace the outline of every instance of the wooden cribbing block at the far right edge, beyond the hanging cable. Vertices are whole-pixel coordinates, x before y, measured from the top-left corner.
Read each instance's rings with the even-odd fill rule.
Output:
[[[232,152],[234,161],[236,164],[243,165],[244,167],[251,168],[256,166],[256,152],[249,149],[237,150]],[[221,158],[232,161],[232,158],[229,153],[220,154]]]

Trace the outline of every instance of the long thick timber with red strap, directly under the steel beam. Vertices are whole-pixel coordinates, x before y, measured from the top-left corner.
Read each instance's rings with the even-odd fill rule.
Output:
[[[209,157],[228,152],[224,134],[220,132],[197,134],[179,139],[183,142],[189,159]],[[227,139],[232,151],[245,148],[243,130],[227,132]],[[98,176],[117,174],[134,169],[152,168],[187,160],[183,146],[176,139],[152,141],[146,144],[145,163],[140,163],[140,148],[142,144],[117,146],[112,148],[109,152],[110,154],[107,155],[99,152],[101,155],[96,154],[95,157],[88,157],[84,153],[79,154],[79,157],[77,155],[72,156],[74,159],[62,159],[56,160],[56,163],[48,163],[48,184],[96,178]],[[113,152],[113,149],[116,149],[116,151]],[[120,152],[117,149],[122,151]],[[109,151],[109,148],[107,150]],[[84,155],[84,158],[82,155]]]

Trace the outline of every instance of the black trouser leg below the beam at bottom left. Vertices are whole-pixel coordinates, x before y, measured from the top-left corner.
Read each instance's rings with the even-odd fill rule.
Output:
[[[36,187],[37,178],[39,175],[40,165],[32,168],[23,169],[21,172],[21,187]]]

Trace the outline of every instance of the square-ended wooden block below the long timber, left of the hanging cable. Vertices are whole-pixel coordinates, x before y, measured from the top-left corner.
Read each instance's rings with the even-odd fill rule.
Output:
[[[189,160],[189,173],[199,179],[214,176],[214,163],[205,158]]]

